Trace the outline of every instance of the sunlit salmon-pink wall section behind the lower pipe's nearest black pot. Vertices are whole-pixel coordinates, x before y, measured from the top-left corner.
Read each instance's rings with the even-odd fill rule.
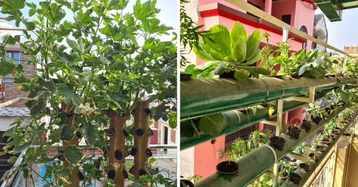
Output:
[[[195,146],[194,175],[206,178],[216,172],[216,165],[226,158],[219,159],[219,151],[225,150],[225,136],[216,139],[215,144],[210,141]]]

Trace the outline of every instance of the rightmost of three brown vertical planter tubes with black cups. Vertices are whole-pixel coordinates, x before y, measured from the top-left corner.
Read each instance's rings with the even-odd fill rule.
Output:
[[[134,175],[135,179],[140,179],[140,176],[146,175],[146,166],[149,166],[149,158],[152,157],[152,151],[149,148],[149,137],[154,133],[149,127],[149,116],[152,111],[149,109],[149,103],[142,100],[138,103],[134,114],[134,127],[130,134],[134,136],[134,147],[130,154],[134,156],[134,165],[130,169],[130,173]]]

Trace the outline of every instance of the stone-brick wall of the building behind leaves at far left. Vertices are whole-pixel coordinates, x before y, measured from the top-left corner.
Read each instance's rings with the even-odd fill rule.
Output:
[[[22,49],[20,46],[10,46],[6,47],[7,51],[20,51],[20,64],[23,67],[24,75],[26,76],[33,76],[36,74],[37,69],[36,66],[29,64],[27,65],[27,61],[30,60],[30,57],[28,55],[24,55],[22,52],[24,49]],[[23,61],[24,60],[24,61]],[[22,92],[19,90],[19,85],[13,82],[5,82],[5,101],[17,98],[17,97],[27,97],[27,92]],[[25,101],[20,101],[14,104],[9,105],[11,108],[25,108]]]

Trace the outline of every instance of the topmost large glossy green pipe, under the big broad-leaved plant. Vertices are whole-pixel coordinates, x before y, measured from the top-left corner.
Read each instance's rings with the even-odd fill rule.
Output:
[[[235,110],[252,105],[357,83],[356,77],[326,77],[324,79],[250,78],[191,79],[180,82],[180,119],[197,118],[213,113]]]

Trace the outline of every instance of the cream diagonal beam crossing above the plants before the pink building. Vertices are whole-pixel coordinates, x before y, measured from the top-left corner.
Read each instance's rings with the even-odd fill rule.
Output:
[[[321,46],[327,47],[329,49],[335,50],[335,51],[337,51],[339,53],[342,53],[344,55],[348,55],[348,53],[346,53],[345,51],[340,50],[340,49],[338,49],[336,47],[330,46],[330,45],[328,45],[328,44],[326,44],[326,43],[324,43],[324,42],[322,42],[322,41],[320,41],[320,40],[318,40],[318,39],[316,39],[316,38],[314,38],[314,37],[312,37],[312,36],[310,36],[308,34],[303,33],[302,31],[292,27],[291,25],[288,25],[287,23],[285,23],[285,22],[279,20],[278,18],[276,18],[276,17],[274,17],[274,16],[272,16],[272,15],[270,15],[270,14],[268,14],[268,13],[266,13],[266,12],[264,12],[264,11],[258,9],[258,8],[256,8],[255,6],[245,2],[243,0],[225,0],[225,1],[233,4],[233,5],[241,8],[241,9],[243,9],[243,10],[245,10],[245,11],[247,11],[247,12],[249,12],[249,13],[255,15],[255,16],[258,16],[258,17],[260,17],[260,18],[262,18],[262,19],[264,19],[264,20],[266,20],[266,21],[268,21],[268,22],[270,22],[272,24],[275,24],[278,27],[286,28],[291,33],[294,33],[294,34],[296,34],[296,35],[298,35],[298,36],[300,36],[302,38],[310,40],[310,41],[312,41],[312,42],[314,42],[316,44],[319,44]]]

